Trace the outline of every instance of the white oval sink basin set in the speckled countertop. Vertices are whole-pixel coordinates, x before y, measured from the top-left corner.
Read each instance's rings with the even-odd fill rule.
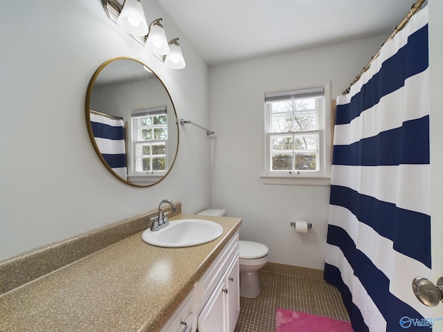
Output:
[[[221,225],[213,221],[181,219],[170,221],[168,226],[154,232],[148,228],[141,234],[141,238],[152,246],[183,248],[214,241],[222,233]]]

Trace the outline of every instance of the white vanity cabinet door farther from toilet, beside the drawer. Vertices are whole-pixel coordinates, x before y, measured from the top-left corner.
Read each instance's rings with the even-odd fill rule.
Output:
[[[224,280],[221,280],[199,315],[199,332],[225,332],[225,308],[226,288]]]

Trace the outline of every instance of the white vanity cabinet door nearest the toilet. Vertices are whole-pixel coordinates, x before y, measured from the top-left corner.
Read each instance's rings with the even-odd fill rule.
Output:
[[[239,261],[238,257],[233,261],[226,275],[228,288],[227,301],[227,327],[228,332],[234,332],[240,313],[240,284],[239,284]]]

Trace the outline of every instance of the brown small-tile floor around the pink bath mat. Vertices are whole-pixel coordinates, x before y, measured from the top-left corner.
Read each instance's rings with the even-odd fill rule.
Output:
[[[341,294],[324,280],[259,270],[261,293],[256,299],[240,297],[235,332],[275,331],[275,308],[284,308],[349,322]]]

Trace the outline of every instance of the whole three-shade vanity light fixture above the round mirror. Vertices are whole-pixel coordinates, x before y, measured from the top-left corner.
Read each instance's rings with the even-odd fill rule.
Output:
[[[123,6],[118,0],[102,0],[102,4],[110,19],[145,46],[157,59],[164,62],[165,66],[173,69],[181,69],[186,66],[183,53],[177,42],[179,39],[175,38],[169,43],[167,42],[168,39],[166,39],[165,30],[161,24],[162,19],[155,19],[148,28],[140,0],[125,0]]]

